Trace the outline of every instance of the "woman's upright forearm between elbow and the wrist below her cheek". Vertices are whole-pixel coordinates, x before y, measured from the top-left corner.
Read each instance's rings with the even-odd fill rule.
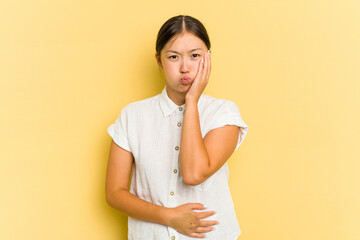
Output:
[[[206,180],[209,157],[200,130],[197,101],[187,101],[180,143],[180,170],[184,182],[197,185]]]

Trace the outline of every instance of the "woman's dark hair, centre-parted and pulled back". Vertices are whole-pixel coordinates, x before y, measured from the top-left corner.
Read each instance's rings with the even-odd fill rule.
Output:
[[[196,18],[179,15],[170,18],[161,26],[156,39],[156,53],[160,55],[165,44],[176,34],[184,31],[199,37],[210,49],[210,39],[204,25]]]

